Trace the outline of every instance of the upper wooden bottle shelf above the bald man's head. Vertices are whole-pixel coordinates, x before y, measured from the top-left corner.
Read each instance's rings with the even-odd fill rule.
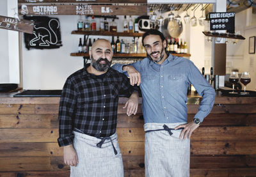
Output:
[[[119,33],[110,31],[72,31],[73,35],[92,35],[92,36],[129,36],[140,37],[143,33]]]

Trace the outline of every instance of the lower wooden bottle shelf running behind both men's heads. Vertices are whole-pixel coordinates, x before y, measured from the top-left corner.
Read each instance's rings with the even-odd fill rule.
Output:
[[[172,54],[179,57],[190,57],[191,54]],[[89,57],[88,53],[71,53],[70,56],[85,56]],[[145,58],[146,54],[114,54],[113,58]]]

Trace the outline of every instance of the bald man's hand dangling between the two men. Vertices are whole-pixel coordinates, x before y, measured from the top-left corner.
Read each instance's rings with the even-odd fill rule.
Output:
[[[138,111],[138,104],[139,104],[139,94],[138,92],[132,93],[129,100],[125,103],[124,109],[127,107],[126,114],[131,116],[131,114],[136,114]]]

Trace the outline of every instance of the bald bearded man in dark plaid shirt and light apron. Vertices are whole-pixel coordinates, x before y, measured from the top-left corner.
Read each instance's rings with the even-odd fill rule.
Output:
[[[124,176],[116,135],[118,93],[131,96],[127,115],[136,114],[138,90],[112,68],[108,40],[97,40],[89,51],[91,63],[70,75],[63,86],[59,110],[59,146],[63,146],[70,176]]]

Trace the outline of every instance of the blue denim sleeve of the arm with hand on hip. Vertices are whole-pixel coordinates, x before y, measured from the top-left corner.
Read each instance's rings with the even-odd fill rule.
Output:
[[[212,106],[214,105],[215,90],[206,81],[203,75],[200,73],[198,68],[189,62],[188,67],[188,79],[191,84],[195,87],[196,91],[200,96],[202,96],[202,101],[200,102],[200,107],[195,115],[195,118],[199,118],[203,121],[204,118],[211,112]]]

